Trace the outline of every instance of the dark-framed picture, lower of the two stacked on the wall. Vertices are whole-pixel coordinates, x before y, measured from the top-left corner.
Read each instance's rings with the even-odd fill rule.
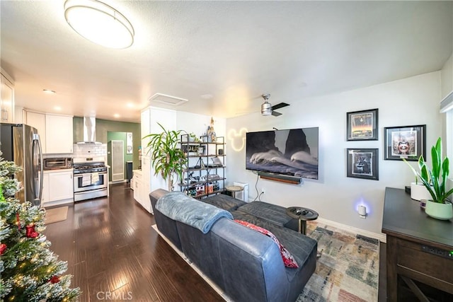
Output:
[[[379,180],[378,149],[346,149],[348,178]]]

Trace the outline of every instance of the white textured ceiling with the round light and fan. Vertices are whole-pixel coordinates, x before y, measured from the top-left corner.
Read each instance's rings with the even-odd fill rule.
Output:
[[[105,120],[139,122],[154,93],[189,100],[177,110],[259,112],[263,93],[304,102],[440,70],[453,51],[452,1],[104,0],[134,26],[125,50],[75,33],[64,1],[0,2],[16,105]]]

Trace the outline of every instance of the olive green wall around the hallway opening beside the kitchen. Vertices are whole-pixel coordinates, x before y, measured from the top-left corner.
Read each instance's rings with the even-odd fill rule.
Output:
[[[74,143],[84,140],[84,117],[74,117]],[[132,169],[139,167],[139,146],[142,145],[140,124],[137,122],[117,122],[111,120],[96,119],[96,141],[107,144],[109,132],[124,134],[125,161],[132,161]],[[126,154],[126,132],[132,132],[132,154]],[[122,134],[113,134],[121,136]],[[113,139],[115,140],[115,139]]]

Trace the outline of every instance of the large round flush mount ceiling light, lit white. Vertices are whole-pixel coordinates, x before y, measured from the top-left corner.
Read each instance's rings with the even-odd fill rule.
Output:
[[[67,0],[64,18],[71,28],[91,42],[109,48],[126,48],[134,42],[134,28],[115,8],[96,0]]]

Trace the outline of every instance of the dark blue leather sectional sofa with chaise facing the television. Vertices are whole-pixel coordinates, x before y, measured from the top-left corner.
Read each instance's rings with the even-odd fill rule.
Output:
[[[200,211],[222,209],[234,219],[267,229],[291,252],[299,268],[285,267],[272,239],[231,218],[219,218],[210,231],[203,233],[188,223],[164,215],[156,204],[161,199],[157,206],[162,206],[166,197],[190,200],[190,204],[200,206]],[[297,221],[289,218],[283,207],[265,202],[245,203],[223,194],[199,201],[181,192],[169,195],[166,190],[151,192],[149,198],[159,231],[232,301],[295,301],[314,273],[316,240],[294,231]]]

